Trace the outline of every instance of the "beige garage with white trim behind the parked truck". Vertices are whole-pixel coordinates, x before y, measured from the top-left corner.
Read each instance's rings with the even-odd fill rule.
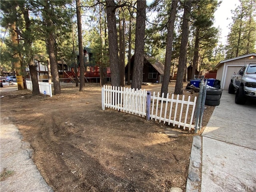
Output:
[[[237,73],[245,64],[256,63],[256,53],[251,53],[227,60],[220,61],[216,65],[216,79],[220,80],[220,88],[228,90],[231,75]]]

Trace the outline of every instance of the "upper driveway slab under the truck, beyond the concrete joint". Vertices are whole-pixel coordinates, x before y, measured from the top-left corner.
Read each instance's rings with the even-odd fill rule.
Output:
[[[202,136],[256,149],[256,101],[235,103],[235,95],[223,91]]]

